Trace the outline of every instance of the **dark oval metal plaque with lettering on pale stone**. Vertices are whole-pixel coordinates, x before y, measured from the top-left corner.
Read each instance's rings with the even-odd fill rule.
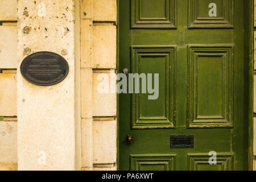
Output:
[[[35,52],[20,65],[22,76],[35,85],[55,85],[68,75],[67,61],[54,52]]]

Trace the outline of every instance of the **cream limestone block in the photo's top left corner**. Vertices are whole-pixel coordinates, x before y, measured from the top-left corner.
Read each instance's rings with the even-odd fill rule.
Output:
[[[17,0],[1,0],[0,3],[0,21],[16,21]]]

